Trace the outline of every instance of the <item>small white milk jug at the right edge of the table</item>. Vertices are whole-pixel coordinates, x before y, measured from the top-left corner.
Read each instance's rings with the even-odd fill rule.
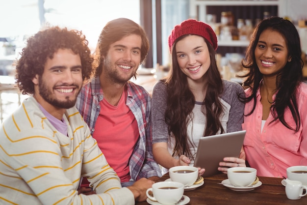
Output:
[[[283,179],[282,181],[286,185],[285,192],[288,199],[297,200],[306,196],[307,186],[303,185],[301,181],[289,180],[288,178]],[[303,194],[304,189],[305,194]]]

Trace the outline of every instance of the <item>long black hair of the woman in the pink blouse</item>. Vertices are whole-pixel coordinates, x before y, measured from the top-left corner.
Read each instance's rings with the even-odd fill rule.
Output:
[[[251,88],[252,94],[245,98],[241,98],[241,100],[244,102],[254,100],[253,109],[247,114],[247,116],[251,115],[256,108],[256,92],[262,79],[262,74],[256,64],[255,49],[260,34],[266,29],[271,29],[281,33],[286,41],[288,55],[291,58],[291,61],[288,61],[281,69],[281,72],[277,75],[277,93],[271,106],[271,112],[274,119],[270,123],[280,120],[284,126],[297,132],[301,126],[301,117],[297,108],[296,90],[299,84],[303,81],[302,69],[304,63],[301,59],[302,52],[300,36],[297,29],[290,21],[280,17],[271,17],[262,20],[256,26],[250,45],[246,50],[246,57],[242,62],[243,68],[247,73],[240,76],[246,77],[243,86],[244,88]],[[287,108],[291,111],[296,127],[291,127],[284,119],[284,111]]]

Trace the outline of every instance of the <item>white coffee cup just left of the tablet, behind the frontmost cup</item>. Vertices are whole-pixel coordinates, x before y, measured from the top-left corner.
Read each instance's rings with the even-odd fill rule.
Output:
[[[172,181],[177,181],[184,186],[191,186],[198,177],[198,168],[192,166],[176,166],[169,169]]]

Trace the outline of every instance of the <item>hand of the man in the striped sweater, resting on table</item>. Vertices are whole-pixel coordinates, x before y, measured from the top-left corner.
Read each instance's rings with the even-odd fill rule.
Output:
[[[154,181],[141,178],[134,182],[132,186],[128,186],[127,188],[133,193],[134,199],[137,202],[143,202],[147,199],[146,191],[151,188]]]

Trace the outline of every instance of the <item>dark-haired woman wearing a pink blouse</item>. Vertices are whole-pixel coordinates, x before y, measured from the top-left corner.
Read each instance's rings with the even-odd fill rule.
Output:
[[[271,17],[253,33],[242,62],[246,159],[258,176],[286,176],[307,165],[307,84],[300,37],[288,20]]]

